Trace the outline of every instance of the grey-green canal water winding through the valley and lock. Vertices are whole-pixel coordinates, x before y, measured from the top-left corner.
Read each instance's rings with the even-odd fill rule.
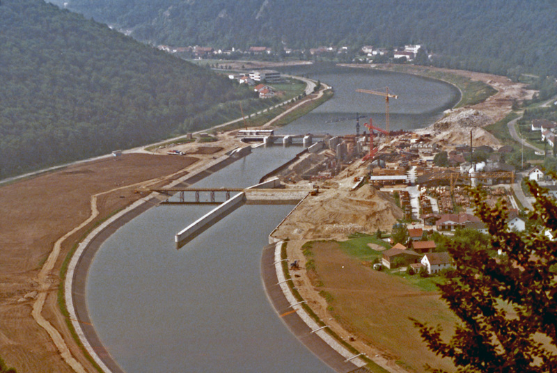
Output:
[[[280,131],[350,133],[354,122],[324,120],[352,111],[372,113],[375,122],[375,116],[384,113],[382,97],[356,97],[354,86],[388,84],[401,95],[391,105],[394,128],[402,128],[404,118],[409,118],[408,128],[423,127],[458,100],[455,88],[402,74],[330,66],[308,71],[313,79],[334,86],[335,97]],[[362,83],[366,79],[369,85]],[[422,100],[425,93],[432,101],[439,96],[444,104]],[[376,114],[369,106],[374,100],[380,102]],[[416,104],[420,100],[423,103]],[[196,187],[256,184],[300,151],[297,146],[256,148]],[[86,300],[104,346],[128,373],[332,372],[283,325],[260,279],[261,249],[293,206],[244,205],[177,251],[175,233],[213,207],[152,208],[102,245],[89,271]]]

